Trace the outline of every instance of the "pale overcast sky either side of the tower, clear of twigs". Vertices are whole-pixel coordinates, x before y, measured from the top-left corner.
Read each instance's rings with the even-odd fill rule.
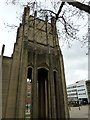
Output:
[[[5,44],[5,56],[11,56],[13,52],[13,46],[16,41],[16,30],[5,28],[5,24],[15,24],[19,26],[19,19],[17,11],[23,12],[23,9],[17,6],[4,4],[5,0],[0,0],[0,51],[2,44]],[[87,19],[86,19],[87,20]],[[87,27],[85,27],[81,34],[85,33]],[[81,35],[80,34],[80,35]],[[88,56],[86,55],[87,47],[81,48],[79,41],[73,41],[71,48],[68,48],[67,44],[64,44],[61,50],[64,58],[66,84],[74,83],[78,80],[88,79]]]

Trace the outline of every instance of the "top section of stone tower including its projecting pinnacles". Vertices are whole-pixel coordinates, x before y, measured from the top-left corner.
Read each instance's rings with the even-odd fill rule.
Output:
[[[24,8],[20,29],[19,36],[23,33],[24,41],[27,39],[30,42],[49,45],[51,47],[57,45],[56,20],[54,17],[51,18],[51,22],[47,16],[45,20],[42,20],[37,17],[37,11],[35,11],[34,16],[31,16],[30,8],[27,6]]]

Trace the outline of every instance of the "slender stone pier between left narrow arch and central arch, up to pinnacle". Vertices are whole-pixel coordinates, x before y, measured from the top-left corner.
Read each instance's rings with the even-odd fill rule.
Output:
[[[32,111],[31,111],[31,117],[37,118],[38,117],[38,96],[37,96],[37,51],[36,51],[36,17],[37,17],[37,11],[34,13],[34,23],[33,23],[33,41],[34,41],[34,70],[33,70],[33,79],[32,79]]]

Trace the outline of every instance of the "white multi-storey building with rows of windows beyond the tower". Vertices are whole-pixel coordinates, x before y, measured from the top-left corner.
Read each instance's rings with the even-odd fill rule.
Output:
[[[90,102],[90,80],[77,81],[67,86],[68,102],[86,104]]]

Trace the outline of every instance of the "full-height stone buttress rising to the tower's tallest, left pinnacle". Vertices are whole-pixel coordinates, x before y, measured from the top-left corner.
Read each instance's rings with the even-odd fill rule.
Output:
[[[16,101],[16,118],[25,117],[25,105],[26,105],[26,87],[27,87],[27,65],[28,65],[28,27],[29,27],[29,6],[24,8],[22,19],[22,44],[19,63],[19,76],[18,76],[18,89],[17,89],[17,101]]]

